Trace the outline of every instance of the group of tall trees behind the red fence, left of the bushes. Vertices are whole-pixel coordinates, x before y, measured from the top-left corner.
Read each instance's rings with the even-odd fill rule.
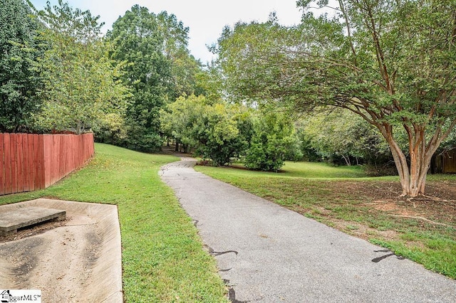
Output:
[[[99,16],[62,0],[43,11],[6,0],[0,13],[0,132],[93,131],[157,151],[160,108],[204,93],[206,72],[175,15],[136,5],[103,36]]]

